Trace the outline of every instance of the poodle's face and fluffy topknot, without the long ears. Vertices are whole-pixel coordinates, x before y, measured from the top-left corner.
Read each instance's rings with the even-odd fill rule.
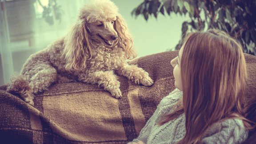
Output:
[[[111,48],[118,39],[118,34],[114,28],[119,15],[118,8],[109,0],[89,2],[90,5],[81,8],[80,19],[85,20],[87,32],[92,40]]]

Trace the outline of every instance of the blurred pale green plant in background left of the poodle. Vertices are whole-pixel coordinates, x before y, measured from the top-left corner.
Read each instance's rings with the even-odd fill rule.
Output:
[[[58,20],[59,23],[61,22],[63,10],[61,10],[61,6],[57,4],[56,0],[49,0],[48,6],[44,6],[40,0],[37,1],[39,5],[44,9],[43,17],[48,24],[54,24],[54,18]]]

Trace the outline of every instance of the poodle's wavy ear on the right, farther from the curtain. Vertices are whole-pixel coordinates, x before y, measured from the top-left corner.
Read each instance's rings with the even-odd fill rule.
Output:
[[[125,23],[122,16],[120,15],[116,16],[114,28],[118,35],[117,45],[121,48],[124,48],[126,57],[128,59],[132,59],[136,57],[137,54],[133,48],[132,35],[128,31],[127,24]]]

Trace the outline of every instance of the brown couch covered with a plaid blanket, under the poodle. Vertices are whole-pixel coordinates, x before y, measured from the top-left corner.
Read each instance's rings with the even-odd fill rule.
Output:
[[[32,107],[0,87],[2,144],[125,144],[136,138],[160,100],[174,90],[170,60],[177,51],[132,60],[154,80],[152,87],[118,76],[123,97],[113,98],[96,85],[53,84],[36,96]],[[248,118],[256,121],[256,56],[245,54],[248,65]],[[256,144],[256,132],[244,144]]]

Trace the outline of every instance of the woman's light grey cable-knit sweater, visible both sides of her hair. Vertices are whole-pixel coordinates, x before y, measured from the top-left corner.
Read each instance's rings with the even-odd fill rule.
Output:
[[[173,106],[182,97],[182,92],[175,89],[164,97],[156,111],[140,131],[137,140],[144,144],[176,144],[186,133],[184,113],[163,125],[156,125],[162,116],[173,111]],[[203,135],[202,144],[240,144],[248,137],[248,131],[240,119],[227,119],[208,128]]]

